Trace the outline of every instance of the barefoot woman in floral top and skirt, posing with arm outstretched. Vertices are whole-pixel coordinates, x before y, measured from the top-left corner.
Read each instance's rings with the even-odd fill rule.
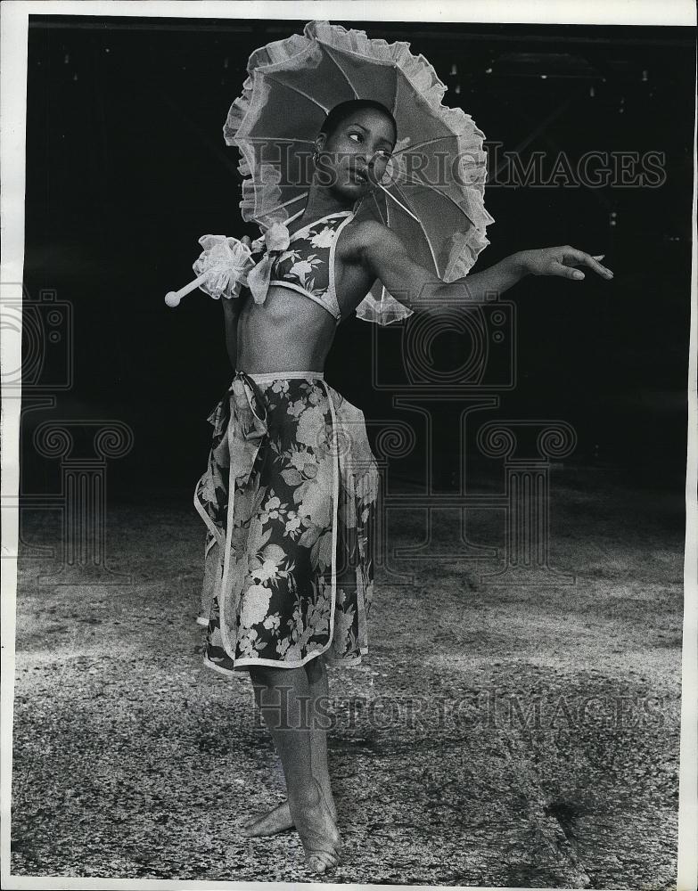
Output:
[[[248,464],[245,474],[236,477],[242,485],[235,485],[225,545],[236,554],[227,581],[236,593],[228,598],[233,607],[226,622],[220,616],[220,593],[214,601],[207,664],[250,672],[283,765],[287,800],[248,823],[243,833],[269,835],[295,825],[308,866],[317,873],[336,865],[340,852],[326,732],[316,720],[327,697],[325,662],[332,655],[356,661],[366,651],[357,625],[355,630],[349,625],[366,607],[362,597],[367,599],[367,591],[358,590],[361,580],[365,589],[371,581],[370,560],[360,554],[357,558],[351,544],[342,551],[347,529],[338,529],[341,495],[336,479],[334,490],[329,477],[324,486],[317,483],[327,462],[334,462],[335,471],[338,462],[333,436],[336,448],[341,411],[322,378],[337,324],[357,308],[376,279],[411,309],[439,313],[439,306],[450,311],[457,300],[467,304],[488,292],[502,293],[527,274],[581,280],[584,274],[574,266],[583,265],[612,278],[594,257],[566,245],[521,251],[467,280],[434,281],[390,229],[353,218],[357,201],[385,173],[397,139],[395,120],[378,102],[356,100],[333,108],[316,138],[307,204],[288,226],[291,242],[275,258],[266,294],[253,300],[243,292],[241,298],[222,300],[227,349],[238,370],[231,388],[231,424],[239,427],[237,439],[228,437],[228,445],[233,442],[234,450],[239,442],[241,455],[247,448],[240,460]],[[405,294],[414,296],[407,299]],[[316,419],[313,441],[298,421],[310,416]],[[226,417],[213,420],[222,443]],[[254,434],[250,438],[253,430],[256,440]],[[316,500],[308,506],[310,489],[298,493],[311,484]],[[324,493],[322,503],[318,492]],[[371,506],[371,499],[367,501]],[[360,530],[359,540],[362,535]],[[333,566],[318,544],[325,551],[333,549]],[[349,576],[358,567],[358,584],[337,584],[342,554],[349,555],[349,563],[353,554]],[[321,589],[333,592],[329,621],[326,609],[318,607],[327,605],[326,597],[323,601],[318,595]],[[333,621],[335,613],[340,620]],[[309,718],[304,702],[309,703]]]

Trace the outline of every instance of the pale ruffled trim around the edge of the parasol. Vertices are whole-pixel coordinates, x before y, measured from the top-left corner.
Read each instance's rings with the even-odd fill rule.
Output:
[[[238,141],[236,136],[243,119],[250,112],[256,114],[267,102],[268,87],[264,78],[256,77],[256,69],[280,63],[283,63],[284,69],[304,69],[308,67],[308,57],[312,57],[316,42],[361,53],[397,67],[430,106],[434,116],[456,137],[459,156],[472,159],[472,172],[463,186],[463,207],[472,221],[472,228],[465,234],[452,236],[443,278],[446,282],[452,282],[468,274],[480,252],[489,244],[487,226],[495,222],[483,200],[487,180],[487,153],[483,149],[485,135],[463,109],[442,104],[447,86],[422,54],[415,56],[410,52],[409,43],[396,41],[389,44],[382,38],[367,37],[365,31],[348,30],[341,25],[331,25],[329,21],[309,21],[302,35],[293,34],[259,47],[250,54],[250,77],[242,85],[242,95],[231,105],[223,127],[226,144],[237,146],[242,153],[238,165],[238,171],[244,177],[240,202],[242,218],[248,222],[254,220],[264,228],[274,223],[285,223],[296,209],[293,203],[279,206],[282,198],[279,171],[258,164],[249,143],[245,143],[243,138]],[[357,317],[386,325],[412,315],[412,310],[393,298],[385,288],[380,287],[380,295],[380,298],[376,298],[373,291],[368,294],[357,307]]]

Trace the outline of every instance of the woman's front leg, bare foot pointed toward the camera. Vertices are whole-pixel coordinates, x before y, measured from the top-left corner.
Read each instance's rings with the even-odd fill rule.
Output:
[[[313,776],[310,691],[305,668],[250,668],[259,710],[274,739],[288,806],[308,865],[318,873],[339,862],[340,836]]]

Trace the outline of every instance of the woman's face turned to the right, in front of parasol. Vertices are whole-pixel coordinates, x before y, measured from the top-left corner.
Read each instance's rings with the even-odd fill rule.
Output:
[[[390,118],[377,109],[352,112],[331,135],[318,137],[321,184],[357,200],[381,181],[394,145]]]

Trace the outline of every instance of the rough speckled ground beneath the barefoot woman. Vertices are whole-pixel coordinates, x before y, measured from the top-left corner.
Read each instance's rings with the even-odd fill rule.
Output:
[[[201,666],[200,519],[112,505],[109,523],[130,584],[39,584],[56,561],[20,560],[12,875],[310,880],[295,833],[236,831],[283,779],[249,682]],[[401,516],[399,544],[418,525]],[[475,544],[501,526],[469,519]],[[331,681],[328,880],[675,887],[682,497],[565,468],[552,527],[576,584],[495,586],[454,559],[413,561],[414,584],[379,571],[370,657]],[[47,516],[23,535],[58,541]]]

